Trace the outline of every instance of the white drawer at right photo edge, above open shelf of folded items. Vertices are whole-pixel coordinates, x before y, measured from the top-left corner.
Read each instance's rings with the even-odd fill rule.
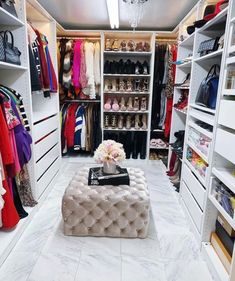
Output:
[[[215,141],[215,151],[235,164],[235,134],[218,129]]]

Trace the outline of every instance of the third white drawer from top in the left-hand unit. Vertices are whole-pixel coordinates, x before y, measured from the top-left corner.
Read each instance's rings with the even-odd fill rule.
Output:
[[[60,156],[60,147],[57,144],[53,147],[40,161],[36,163],[36,179],[39,179],[42,174],[48,169],[51,163]]]

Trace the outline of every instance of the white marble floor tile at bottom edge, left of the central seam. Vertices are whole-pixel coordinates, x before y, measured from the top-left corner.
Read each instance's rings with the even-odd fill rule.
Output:
[[[121,256],[82,252],[75,281],[121,281]]]

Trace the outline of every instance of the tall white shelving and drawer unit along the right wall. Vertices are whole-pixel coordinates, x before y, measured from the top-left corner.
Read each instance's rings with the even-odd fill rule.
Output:
[[[206,3],[201,1],[198,6],[203,10]],[[198,14],[201,14],[199,11]],[[193,60],[189,90],[189,105],[186,119],[185,144],[180,186],[181,203],[187,214],[191,229],[201,245],[203,256],[216,281],[235,280],[235,252],[233,253],[231,270],[226,271],[216,250],[211,244],[211,233],[215,231],[218,213],[221,213],[227,222],[234,228],[234,215],[225,211],[221,202],[221,186],[227,188],[228,194],[235,196],[235,177],[232,172],[235,168],[235,153],[232,147],[235,143],[234,107],[232,98],[233,58],[231,46],[234,43],[234,34],[231,18],[235,16],[235,1],[229,1],[225,8],[216,17],[202,28],[196,29],[189,42],[193,41]],[[201,18],[201,17],[199,17]],[[205,56],[199,56],[198,48],[201,42],[220,37],[225,34],[222,49]],[[194,40],[192,40],[194,38]],[[233,42],[233,43],[232,43]],[[184,45],[182,42],[180,45]],[[179,46],[180,46],[179,45]],[[180,48],[180,47],[179,47]],[[234,55],[234,54],[233,54]],[[215,109],[206,108],[195,103],[197,92],[202,80],[206,77],[212,65],[220,66],[219,86]],[[233,116],[234,115],[234,116]],[[197,138],[198,135],[198,138]],[[208,141],[205,146],[204,140]],[[188,161],[188,149],[196,156],[196,166],[206,163],[205,176],[195,169]],[[226,193],[227,194],[227,193]]]

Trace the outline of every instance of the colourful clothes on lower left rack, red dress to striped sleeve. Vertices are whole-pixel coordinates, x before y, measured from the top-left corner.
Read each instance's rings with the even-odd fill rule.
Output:
[[[21,184],[17,184],[17,178],[27,170],[26,165],[31,158],[29,130],[21,95],[0,85],[0,186],[3,186],[0,189],[0,225],[3,228],[15,227],[20,218],[28,216],[23,205],[37,204],[29,181],[27,196],[20,195],[25,189],[24,175],[21,175]]]

